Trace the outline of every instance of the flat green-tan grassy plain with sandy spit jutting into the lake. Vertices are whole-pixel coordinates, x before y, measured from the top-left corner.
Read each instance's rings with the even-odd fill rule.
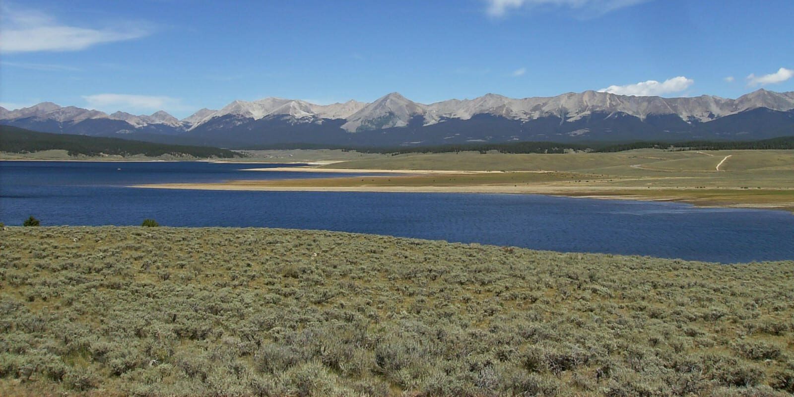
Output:
[[[328,157],[330,158],[330,157]],[[717,166],[719,165],[719,169]],[[794,210],[794,151],[726,150],[377,155],[323,170],[417,170],[415,175],[149,185],[217,190],[459,191],[691,202]],[[434,174],[427,170],[488,173]]]

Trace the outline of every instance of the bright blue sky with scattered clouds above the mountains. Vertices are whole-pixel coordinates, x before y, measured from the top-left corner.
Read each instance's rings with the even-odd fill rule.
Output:
[[[0,105],[794,91],[791,0],[4,0]]]

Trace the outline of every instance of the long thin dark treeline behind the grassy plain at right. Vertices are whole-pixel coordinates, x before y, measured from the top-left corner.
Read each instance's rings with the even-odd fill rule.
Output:
[[[779,137],[762,141],[639,141],[630,143],[587,143],[572,144],[559,142],[505,142],[472,143],[461,145],[412,146],[390,148],[344,147],[333,145],[278,144],[260,146],[260,149],[341,149],[364,153],[404,154],[404,153],[449,153],[449,152],[490,152],[501,153],[565,153],[565,152],[622,152],[638,148],[659,148],[664,150],[739,150],[739,149],[794,149],[794,137]]]

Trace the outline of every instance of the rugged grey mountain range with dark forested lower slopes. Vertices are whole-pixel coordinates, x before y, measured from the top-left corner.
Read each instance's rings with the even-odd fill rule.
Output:
[[[486,94],[429,105],[393,92],[375,102],[331,105],[284,98],[234,101],[179,120],[106,114],[42,102],[0,107],[0,124],[49,133],[224,147],[444,145],[505,141],[754,140],[794,135],[794,91],[736,99],[637,97],[584,91],[554,97]]]

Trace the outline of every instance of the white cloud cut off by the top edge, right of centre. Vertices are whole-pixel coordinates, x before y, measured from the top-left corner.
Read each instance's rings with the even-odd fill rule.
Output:
[[[610,11],[646,1],[648,0],[485,0],[485,3],[486,13],[491,17],[504,17],[511,10],[537,6],[575,10],[580,17],[599,17]]]

